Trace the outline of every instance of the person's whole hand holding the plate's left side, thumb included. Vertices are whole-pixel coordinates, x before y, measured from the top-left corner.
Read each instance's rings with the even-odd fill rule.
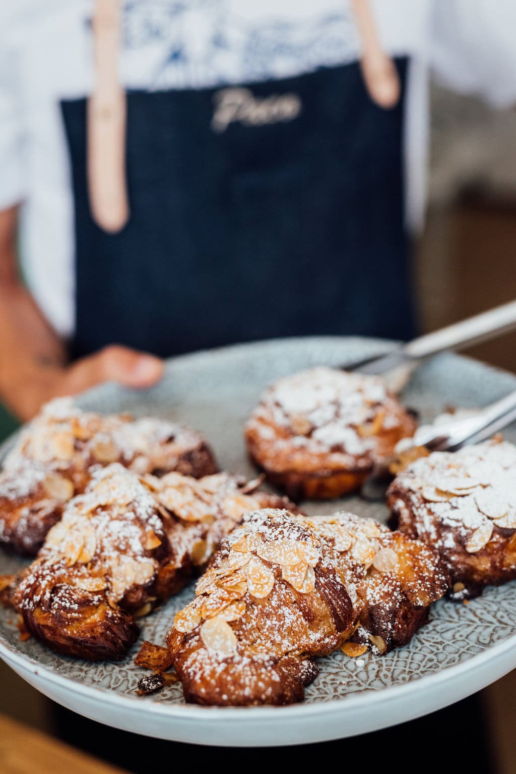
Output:
[[[159,382],[163,361],[151,354],[112,345],[73,365],[12,364],[2,379],[2,399],[21,420],[30,420],[42,403],[90,389],[102,382],[145,388]]]

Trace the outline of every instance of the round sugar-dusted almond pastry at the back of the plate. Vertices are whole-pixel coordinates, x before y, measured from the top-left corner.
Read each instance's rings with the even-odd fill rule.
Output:
[[[378,377],[320,367],[266,389],[245,437],[253,461],[289,497],[324,500],[362,486],[415,430]]]

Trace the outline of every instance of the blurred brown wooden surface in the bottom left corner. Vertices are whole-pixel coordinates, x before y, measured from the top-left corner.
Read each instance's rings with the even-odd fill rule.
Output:
[[[89,755],[34,728],[0,715],[0,772],[2,774],[123,774]]]

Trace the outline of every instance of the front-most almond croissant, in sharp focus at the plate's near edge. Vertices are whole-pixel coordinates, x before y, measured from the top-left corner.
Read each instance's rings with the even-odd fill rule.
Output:
[[[314,656],[350,638],[405,645],[447,587],[433,550],[371,520],[251,512],[175,616],[169,658],[146,643],[137,663],[173,665],[196,704],[290,704],[317,676]]]

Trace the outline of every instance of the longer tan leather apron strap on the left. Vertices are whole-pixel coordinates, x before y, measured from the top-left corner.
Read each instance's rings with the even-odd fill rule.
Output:
[[[118,77],[120,0],[95,0],[95,82],[87,101],[87,176],[90,211],[100,228],[116,233],[129,217],[125,172],[126,98]]]

